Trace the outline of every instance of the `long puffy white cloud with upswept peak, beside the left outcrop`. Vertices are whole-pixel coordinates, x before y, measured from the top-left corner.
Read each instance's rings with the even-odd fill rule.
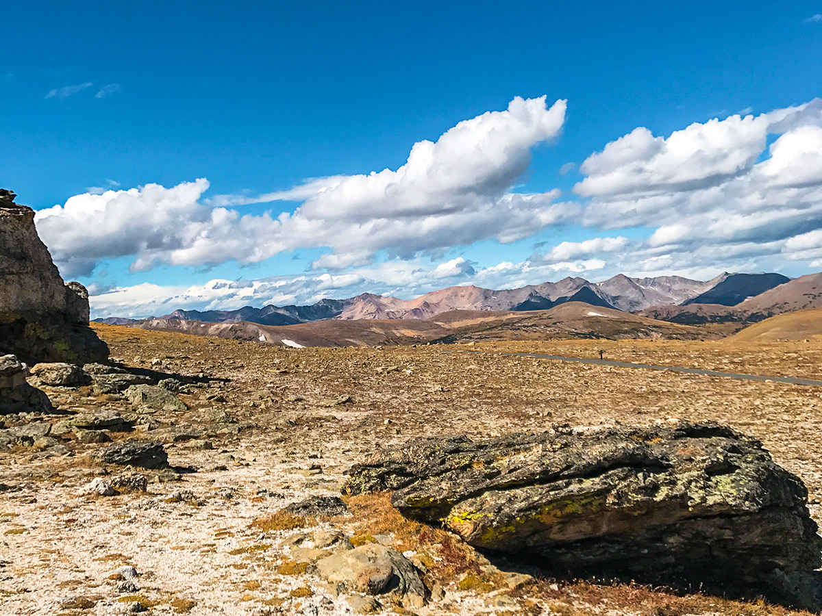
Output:
[[[319,178],[256,199],[202,198],[205,179],[76,195],[38,213],[39,232],[64,274],[88,274],[101,260],[133,255],[133,270],[158,264],[252,263],[281,251],[320,247],[316,268],[369,264],[387,251],[410,259],[496,238],[510,242],[579,215],[559,191],[511,192],[531,149],[553,140],[566,103],[513,99],[413,145],[396,170]],[[302,200],[293,214],[241,214],[237,205]]]

